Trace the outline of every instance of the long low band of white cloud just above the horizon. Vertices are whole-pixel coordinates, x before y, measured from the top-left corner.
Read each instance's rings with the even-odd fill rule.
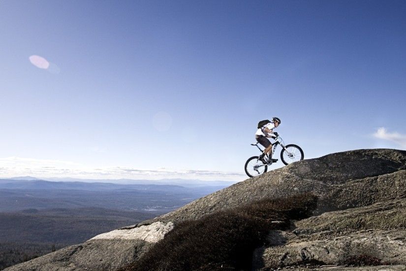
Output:
[[[199,178],[202,180],[243,180],[245,175],[191,169],[137,169],[132,167],[90,167],[80,163],[60,160],[31,159],[20,157],[0,158],[0,178],[16,176],[71,177],[88,179],[162,179]]]

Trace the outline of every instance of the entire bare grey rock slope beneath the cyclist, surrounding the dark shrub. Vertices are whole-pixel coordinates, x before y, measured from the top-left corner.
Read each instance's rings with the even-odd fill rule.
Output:
[[[330,154],[273,170],[155,219],[6,270],[118,270],[137,260],[180,221],[303,192],[318,197],[314,216],[296,221],[291,231],[270,232],[268,242],[254,251],[255,270],[343,265],[357,255],[377,259],[382,269],[404,268],[406,151],[368,149]]]

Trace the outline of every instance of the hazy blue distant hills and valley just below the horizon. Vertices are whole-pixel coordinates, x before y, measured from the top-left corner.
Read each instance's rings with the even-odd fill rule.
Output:
[[[20,178],[0,179],[0,212],[29,208],[91,206],[165,213],[234,184],[233,182],[204,182],[202,184],[188,182],[181,183],[181,186],[177,185],[180,183],[179,180],[161,181],[161,184],[142,184],[143,182],[147,183],[143,180],[139,182],[140,184],[117,184],[39,179],[22,180]]]

